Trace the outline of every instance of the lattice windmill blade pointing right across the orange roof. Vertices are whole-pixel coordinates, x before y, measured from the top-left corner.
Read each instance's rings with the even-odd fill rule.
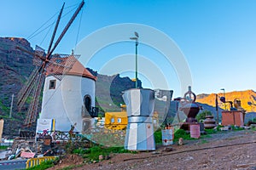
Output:
[[[70,71],[78,61],[80,55],[75,54],[58,54],[59,57],[52,58],[47,67],[47,73],[52,74],[58,80],[62,80],[63,77]]]

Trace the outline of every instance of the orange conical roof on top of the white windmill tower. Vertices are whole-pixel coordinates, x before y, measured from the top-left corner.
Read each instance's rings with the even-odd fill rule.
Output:
[[[69,59],[69,60],[68,60]],[[79,76],[79,77],[87,77],[94,81],[96,81],[96,77],[93,76],[90,71],[88,71],[86,68],[84,68],[84,65],[82,65],[78,59],[75,59],[72,55],[66,58],[53,58],[51,61],[58,63],[60,65],[72,65],[72,68],[65,72],[65,69],[63,69],[62,66],[54,65],[52,63],[49,63],[49,66],[46,69],[46,75],[70,75],[70,76]],[[72,64],[71,64],[72,63]],[[67,66],[68,67],[68,66]]]

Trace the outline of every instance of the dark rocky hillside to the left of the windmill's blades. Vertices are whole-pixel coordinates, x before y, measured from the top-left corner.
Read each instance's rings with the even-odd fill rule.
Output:
[[[25,115],[17,112],[16,97],[33,69],[32,55],[21,52],[17,46],[33,52],[24,38],[0,37],[0,116],[5,121],[3,133],[17,133],[22,125]],[[14,107],[12,118],[9,118],[12,94],[15,95]]]

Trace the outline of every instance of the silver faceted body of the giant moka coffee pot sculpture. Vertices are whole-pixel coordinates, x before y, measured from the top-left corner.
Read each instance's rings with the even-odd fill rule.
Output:
[[[155,150],[152,116],[154,90],[132,88],[123,94],[128,125],[125,135],[127,150]]]

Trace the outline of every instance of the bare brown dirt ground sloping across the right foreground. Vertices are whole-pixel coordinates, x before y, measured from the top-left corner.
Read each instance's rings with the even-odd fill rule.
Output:
[[[183,145],[158,146],[151,152],[115,154],[109,160],[74,169],[250,169],[256,170],[256,131],[211,134],[212,138],[185,141]],[[172,147],[172,148],[171,148]],[[79,165],[83,160],[68,156],[55,167]]]

